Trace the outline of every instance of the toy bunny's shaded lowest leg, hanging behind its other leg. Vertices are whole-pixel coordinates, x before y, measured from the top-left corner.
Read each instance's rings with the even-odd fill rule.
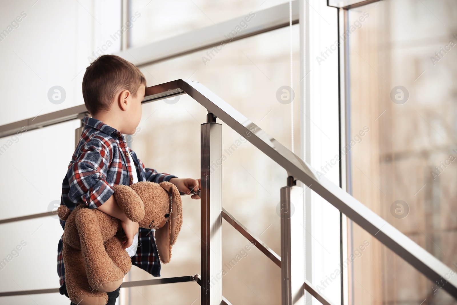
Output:
[[[62,255],[65,286],[70,301],[78,305],[105,305],[108,302],[108,295],[90,288],[81,251],[64,242]]]

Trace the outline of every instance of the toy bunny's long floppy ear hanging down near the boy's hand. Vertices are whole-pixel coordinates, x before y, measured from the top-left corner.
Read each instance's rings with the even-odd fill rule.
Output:
[[[155,230],[155,241],[160,261],[164,264],[170,262],[171,246],[176,242],[182,225],[181,195],[173,183],[160,182],[159,185],[171,195],[171,214],[166,224]]]

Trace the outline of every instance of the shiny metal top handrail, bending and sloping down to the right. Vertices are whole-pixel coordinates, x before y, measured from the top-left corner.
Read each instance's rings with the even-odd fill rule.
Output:
[[[269,156],[273,161],[282,166],[288,176],[300,180],[315,193],[339,209],[347,217],[352,219],[368,233],[376,237],[394,253],[402,257],[420,273],[424,274],[432,282],[445,280],[442,288],[457,299],[457,275],[444,263],[431,255],[425,249],[417,245],[406,235],[390,225],[386,220],[367,208],[356,198],[346,193],[326,177],[317,178],[316,171],[305,161],[288,150],[277,140],[269,136],[264,130],[255,125],[240,112],[224,102],[220,97],[208,90],[202,84],[184,80],[173,80],[161,85],[146,88],[146,97],[143,103],[164,99],[167,96],[186,93],[205,107],[208,112],[214,114],[230,128],[250,141],[255,147]],[[72,118],[78,118],[78,114],[85,112],[84,105],[42,115],[33,119],[21,121],[24,126],[40,128],[55,123],[61,123]],[[73,116],[69,111],[74,112]],[[79,113],[77,113],[79,112]],[[62,116],[60,118],[59,116]],[[34,120],[35,123],[33,123]],[[37,123],[38,122],[38,123]],[[17,123],[17,122],[16,122]],[[0,126],[0,136],[14,134],[18,124],[11,123]],[[29,125],[27,125],[29,124]],[[41,126],[41,125],[42,126]],[[30,130],[30,129],[28,129]]]

